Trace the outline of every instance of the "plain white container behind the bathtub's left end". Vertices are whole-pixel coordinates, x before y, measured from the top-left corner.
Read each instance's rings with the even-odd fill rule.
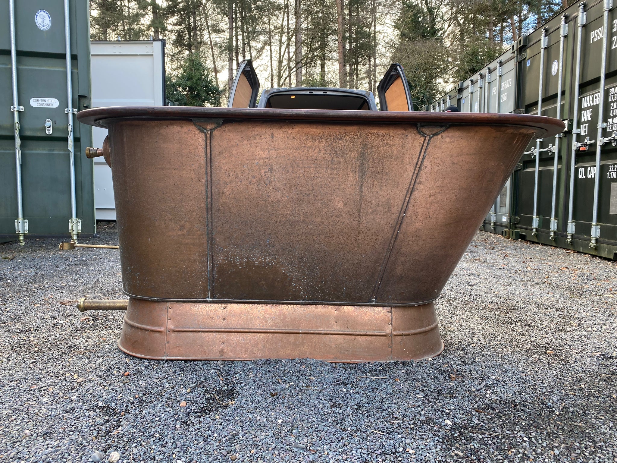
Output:
[[[165,41],[91,41],[92,107],[164,106]],[[107,129],[93,127],[102,148]],[[94,159],[96,220],[115,220],[112,170]]]

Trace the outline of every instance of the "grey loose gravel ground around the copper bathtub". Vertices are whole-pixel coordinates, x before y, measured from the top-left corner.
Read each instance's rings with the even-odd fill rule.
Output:
[[[435,359],[164,362],[75,308],[118,251],[58,242],[0,244],[0,462],[617,462],[615,262],[479,232]]]

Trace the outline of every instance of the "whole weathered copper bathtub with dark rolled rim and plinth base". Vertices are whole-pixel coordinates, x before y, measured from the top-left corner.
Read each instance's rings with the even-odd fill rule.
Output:
[[[532,137],[518,114],[113,107],[120,348],[155,359],[418,359],[433,301]],[[297,305],[301,304],[301,305]]]

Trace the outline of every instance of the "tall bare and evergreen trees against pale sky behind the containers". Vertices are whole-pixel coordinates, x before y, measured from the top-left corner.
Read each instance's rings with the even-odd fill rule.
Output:
[[[91,0],[92,40],[166,41],[166,96],[222,106],[242,59],[262,88],[376,93],[403,65],[415,109],[478,72],[567,0]]]

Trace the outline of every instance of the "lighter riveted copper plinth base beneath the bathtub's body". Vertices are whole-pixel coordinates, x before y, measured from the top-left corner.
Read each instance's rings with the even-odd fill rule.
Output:
[[[167,360],[418,360],[444,344],[433,302],[414,307],[154,302],[131,298],[118,346]]]

